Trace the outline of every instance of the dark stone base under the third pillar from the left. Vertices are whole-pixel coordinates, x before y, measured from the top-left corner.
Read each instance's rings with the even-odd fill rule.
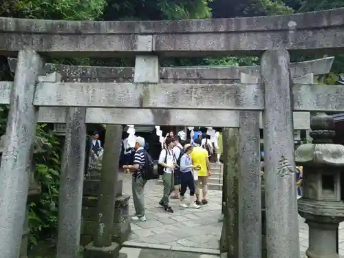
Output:
[[[83,258],[118,258],[120,257],[120,245],[112,243],[107,247],[96,247],[93,242],[85,246]]]

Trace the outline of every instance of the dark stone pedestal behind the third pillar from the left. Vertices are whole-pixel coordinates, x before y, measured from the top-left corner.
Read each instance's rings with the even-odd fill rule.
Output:
[[[81,223],[81,237],[80,244],[86,246],[93,241],[96,233],[97,222],[97,204],[98,204],[98,191],[100,180],[98,176],[92,179],[84,180],[83,187],[83,210],[82,210],[82,223]],[[118,180],[116,188],[116,203],[115,215],[113,225],[112,241],[122,244],[127,241],[131,233],[130,217],[129,217],[129,195],[122,195],[122,180]]]

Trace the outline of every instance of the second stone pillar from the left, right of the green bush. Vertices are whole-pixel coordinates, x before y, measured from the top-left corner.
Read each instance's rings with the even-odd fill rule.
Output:
[[[57,258],[78,258],[85,171],[86,108],[67,109],[58,200]]]

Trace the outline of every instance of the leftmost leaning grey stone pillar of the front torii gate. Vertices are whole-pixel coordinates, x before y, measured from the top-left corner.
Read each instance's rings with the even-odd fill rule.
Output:
[[[33,50],[21,50],[10,95],[6,147],[0,167],[1,257],[18,258],[28,198],[30,162],[38,109],[32,105],[43,60]]]

